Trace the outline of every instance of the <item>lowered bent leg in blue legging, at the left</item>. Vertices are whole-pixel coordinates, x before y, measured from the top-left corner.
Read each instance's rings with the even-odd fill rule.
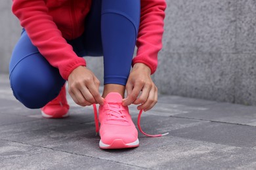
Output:
[[[9,65],[11,88],[16,99],[29,108],[40,108],[54,99],[65,80],[33,46],[26,31],[12,52]]]

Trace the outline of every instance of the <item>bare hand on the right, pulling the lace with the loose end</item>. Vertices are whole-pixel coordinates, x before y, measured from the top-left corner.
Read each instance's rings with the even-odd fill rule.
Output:
[[[137,109],[152,109],[158,102],[158,88],[152,81],[150,68],[143,63],[136,63],[126,84],[127,97],[123,105],[139,105]],[[141,93],[140,93],[141,92]]]

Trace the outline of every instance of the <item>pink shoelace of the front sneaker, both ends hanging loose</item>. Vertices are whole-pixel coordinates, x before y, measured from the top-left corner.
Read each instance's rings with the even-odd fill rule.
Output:
[[[108,103],[107,103],[108,104]],[[121,103],[115,103],[115,104],[119,104],[119,105],[121,105]],[[97,112],[97,108],[96,108],[96,105],[95,104],[93,104],[93,110],[94,110],[94,112],[95,112],[95,130],[96,130],[96,135],[98,134],[98,131],[99,131],[99,126],[98,126],[98,112]],[[120,114],[120,110],[121,109],[118,109],[118,108],[112,108],[111,109],[112,110],[112,112],[111,112],[111,114],[112,114],[112,116],[114,116],[114,117],[116,117],[116,118],[114,118],[114,120],[115,119],[117,119],[117,120],[120,120],[120,121],[127,121],[126,119],[125,119],[125,115],[123,115],[123,114]],[[147,136],[147,137],[161,137],[161,136],[164,136],[164,135],[168,135],[169,133],[163,133],[163,134],[158,134],[158,135],[150,135],[150,134],[148,134],[148,133],[145,133],[144,131],[142,131],[142,129],[141,129],[141,127],[140,127],[140,116],[141,116],[141,114],[142,114],[142,112],[143,112],[143,110],[140,110],[140,112],[139,112],[139,116],[138,116],[138,122],[137,122],[137,124],[138,124],[138,127],[139,127],[139,130],[140,130],[140,132],[143,134],[143,135],[145,135],[145,136]],[[113,120],[113,119],[112,119]]]

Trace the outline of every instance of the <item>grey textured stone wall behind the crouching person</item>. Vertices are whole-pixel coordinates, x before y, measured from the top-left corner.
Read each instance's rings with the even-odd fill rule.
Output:
[[[20,35],[12,1],[0,1],[0,71]],[[167,0],[160,93],[256,105],[256,1]],[[102,58],[86,58],[102,81]]]

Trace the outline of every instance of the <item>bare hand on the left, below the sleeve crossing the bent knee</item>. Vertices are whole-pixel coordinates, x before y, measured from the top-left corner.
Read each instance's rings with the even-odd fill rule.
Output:
[[[92,71],[79,66],[68,76],[68,92],[77,105],[88,106],[93,103],[103,104],[98,88],[100,81]]]

